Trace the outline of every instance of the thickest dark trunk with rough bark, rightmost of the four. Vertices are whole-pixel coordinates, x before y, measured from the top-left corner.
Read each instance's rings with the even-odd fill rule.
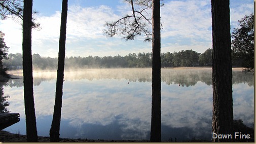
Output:
[[[232,63],[229,0],[211,0],[212,13],[212,132],[233,135]],[[233,135],[234,136],[234,135]],[[214,139],[212,141],[231,141]]]

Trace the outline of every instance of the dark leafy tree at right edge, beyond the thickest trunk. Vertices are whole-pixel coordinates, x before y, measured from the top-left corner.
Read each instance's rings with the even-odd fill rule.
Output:
[[[238,21],[239,28],[232,32],[232,48],[236,59],[243,59],[243,71],[254,71],[254,14]]]

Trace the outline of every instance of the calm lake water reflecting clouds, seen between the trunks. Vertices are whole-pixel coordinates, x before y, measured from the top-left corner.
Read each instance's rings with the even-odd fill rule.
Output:
[[[65,71],[60,137],[150,139],[151,68]],[[22,74],[20,74],[22,76]],[[162,140],[211,140],[212,85],[209,69],[165,69],[162,79]],[[55,71],[34,72],[38,135],[49,136]],[[234,119],[254,125],[254,77],[233,71]],[[23,79],[4,86],[8,110],[20,122],[4,129],[25,134]]]

